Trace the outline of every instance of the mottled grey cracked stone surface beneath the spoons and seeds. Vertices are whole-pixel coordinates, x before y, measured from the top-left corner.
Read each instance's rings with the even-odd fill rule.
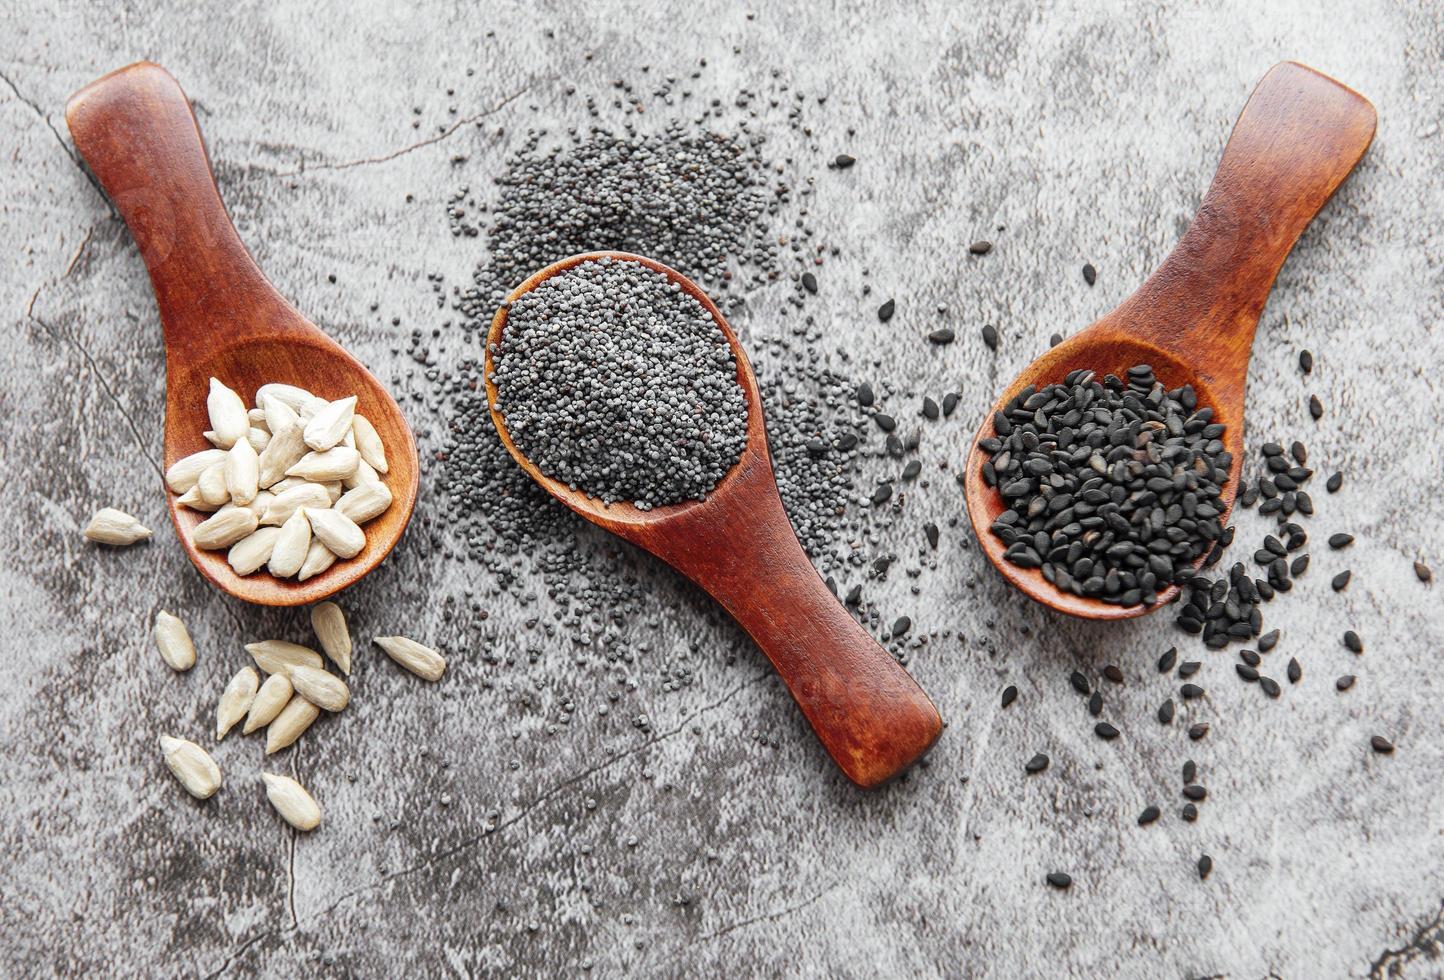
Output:
[[[1428,0],[793,1],[758,4],[755,20],[742,4],[635,0],[4,4],[0,973],[1440,976],[1444,613],[1440,585],[1409,566],[1422,556],[1444,572],[1441,45]],[[657,606],[625,636],[650,647],[622,671],[634,686],[576,668],[514,599],[487,598],[484,631],[453,616],[445,599],[477,572],[425,527],[439,512],[427,499],[342,602],[362,636],[445,648],[443,683],[360,654],[354,706],[274,762],[322,801],[319,833],[297,839],[274,818],[254,739],[218,746],[227,787],[195,804],[156,733],[209,743],[240,641],[306,626],[211,590],[165,518],[153,302],[64,124],[72,91],[140,58],[195,100],[261,267],[407,391],[423,385],[397,333],[445,316],[427,273],[456,283],[479,255],[446,232],[448,195],[487,186],[526,127],[585,124],[566,85],[606,95],[612,78],[643,82],[641,64],[684,74],[706,58],[697,98],[728,98],[775,88],[768,71],[784,68],[796,89],[829,94],[809,107],[813,137],[794,140],[819,175],[814,221],[842,250],[812,312],[838,344],[875,351],[878,378],[962,384],[959,414],[924,445],[930,465],[960,460],[995,385],[1050,332],[1090,322],[1167,254],[1269,65],[1333,74],[1375,102],[1379,134],[1284,268],[1249,391],[1252,443],[1302,433],[1324,472],[1349,478],[1317,495],[1314,567],[1268,609],[1285,636],[1274,673],[1297,655],[1304,683],[1271,703],[1229,657],[1183,644],[1210,691],[1186,717],[1214,725],[1188,743],[1151,719],[1177,684],[1151,665],[1180,639],[1165,615],[1053,618],[1006,592],[957,528],[936,570],[872,586],[879,608],[936,634],[911,662],[950,727],[927,768],[864,795],[745,638],[644,559],[621,560]],[[482,128],[465,124],[484,113]],[[858,166],[826,172],[843,150]],[[982,237],[993,254],[965,261]],[[1084,260],[1099,268],[1092,290]],[[866,299],[862,268],[878,289]],[[882,326],[885,294],[900,313]],[[765,333],[778,300],[749,299],[744,331]],[[939,303],[960,332],[943,351],[921,341]],[[996,354],[983,322],[1001,326]],[[1307,385],[1300,346],[1318,355]],[[1328,407],[1318,424],[1310,390]],[[435,406],[407,404],[435,449]],[[87,546],[79,528],[105,504],[157,528],[155,541]],[[908,533],[960,508],[943,476]],[[1359,543],[1327,551],[1334,530]],[[1256,515],[1240,518],[1249,550],[1261,534]],[[1346,564],[1354,582],[1334,596],[1327,580]],[[183,677],[147,639],[162,606],[201,648]],[[1349,626],[1362,660],[1339,642]],[[1128,686],[1108,691],[1123,736],[1103,743],[1067,674],[1109,661]],[[667,691],[679,662],[693,683]],[[1344,671],[1360,681],[1340,696]],[[1001,712],[1008,683],[1022,697]],[[606,691],[621,699],[604,716]],[[547,735],[567,699],[575,720]],[[1375,732],[1393,756],[1369,752]],[[1035,751],[1053,766],[1024,778]],[[1196,824],[1177,817],[1188,756],[1212,794]],[[1165,817],[1138,828],[1148,802]],[[1043,883],[1056,869],[1071,891]]]

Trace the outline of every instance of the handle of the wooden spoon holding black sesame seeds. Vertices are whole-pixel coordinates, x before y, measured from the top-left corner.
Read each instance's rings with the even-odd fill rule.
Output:
[[[1142,313],[1147,323],[1149,307],[1167,307],[1168,316],[1152,318],[1160,326],[1149,339],[1193,352],[1227,345],[1246,365],[1278,270],[1359,163],[1375,123],[1369,100],[1327,75],[1295,62],[1271,68],[1233,126],[1188,232],[1119,312]],[[1135,305],[1144,309],[1126,309]],[[1219,323],[1230,328],[1220,332]],[[1191,336],[1188,325],[1204,335]]]

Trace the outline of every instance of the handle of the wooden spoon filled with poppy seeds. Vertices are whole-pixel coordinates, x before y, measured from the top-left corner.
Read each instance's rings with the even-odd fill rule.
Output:
[[[849,779],[887,782],[937,740],[933,701],[829,592],[775,489],[751,495],[745,520],[697,521],[667,538],[647,547],[747,629]]]

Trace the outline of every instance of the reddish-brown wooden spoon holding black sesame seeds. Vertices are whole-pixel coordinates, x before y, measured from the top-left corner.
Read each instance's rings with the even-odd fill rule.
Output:
[[[1213,185],[1187,234],[1158,270],[1118,309],[1035,359],[988,413],[978,440],[993,436],[993,414],[1030,384],[1061,381],[1073,368],[1099,377],[1151,364],[1167,388],[1191,384],[1222,421],[1233,455],[1223,486],[1223,520],[1243,463],[1243,387],[1259,313],[1300,234],[1349,176],[1373,139],[1375,111],[1362,95],[1311,68],[1282,62],[1253,89],[1223,150]],[[1162,606],[1115,606],[1063,592],[1037,569],[1004,560],[989,527],[1006,509],[982,479],[985,453],[973,442],[966,499],[973,531],[1002,576],[1038,602],[1084,619],[1126,619]],[[1194,567],[1203,564],[1200,557]]]

